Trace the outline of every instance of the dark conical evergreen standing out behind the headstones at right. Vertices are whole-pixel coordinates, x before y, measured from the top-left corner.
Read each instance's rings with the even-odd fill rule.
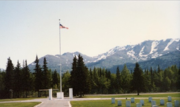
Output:
[[[137,95],[143,91],[145,87],[143,71],[140,68],[139,64],[136,63],[133,73],[133,89],[137,91]]]

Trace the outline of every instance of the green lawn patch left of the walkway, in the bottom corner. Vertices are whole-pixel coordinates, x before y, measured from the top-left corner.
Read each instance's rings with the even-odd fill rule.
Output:
[[[0,103],[0,107],[34,107],[40,102]]]

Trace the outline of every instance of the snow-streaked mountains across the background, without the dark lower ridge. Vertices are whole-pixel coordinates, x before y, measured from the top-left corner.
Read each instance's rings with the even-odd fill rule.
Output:
[[[89,68],[101,67],[111,68],[115,65],[123,65],[125,63],[135,63],[148,61],[158,58],[168,53],[178,51],[180,52],[180,38],[166,39],[166,40],[147,40],[136,45],[116,46],[109,51],[95,57],[89,57],[80,52],[64,53],[63,55],[46,55],[48,67],[51,70],[59,70],[59,63],[61,59],[62,70],[70,71],[74,56],[81,54],[85,64]],[[43,57],[40,58],[40,64],[43,64]],[[29,67],[34,69],[34,63]]]

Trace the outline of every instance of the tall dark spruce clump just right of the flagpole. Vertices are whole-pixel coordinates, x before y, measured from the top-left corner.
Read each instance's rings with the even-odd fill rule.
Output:
[[[85,93],[90,91],[90,75],[88,69],[84,64],[82,56],[78,55],[73,59],[71,71],[71,85],[76,95],[82,97]]]

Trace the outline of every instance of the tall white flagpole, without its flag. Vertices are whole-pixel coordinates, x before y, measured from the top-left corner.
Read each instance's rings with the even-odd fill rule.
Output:
[[[59,19],[59,25],[60,25],[60,19]],[[60,54],[60,92],[62,92],[62,78],[61,78],[61,31],[60,31],[60,26],[59,26],[59,54]]]

